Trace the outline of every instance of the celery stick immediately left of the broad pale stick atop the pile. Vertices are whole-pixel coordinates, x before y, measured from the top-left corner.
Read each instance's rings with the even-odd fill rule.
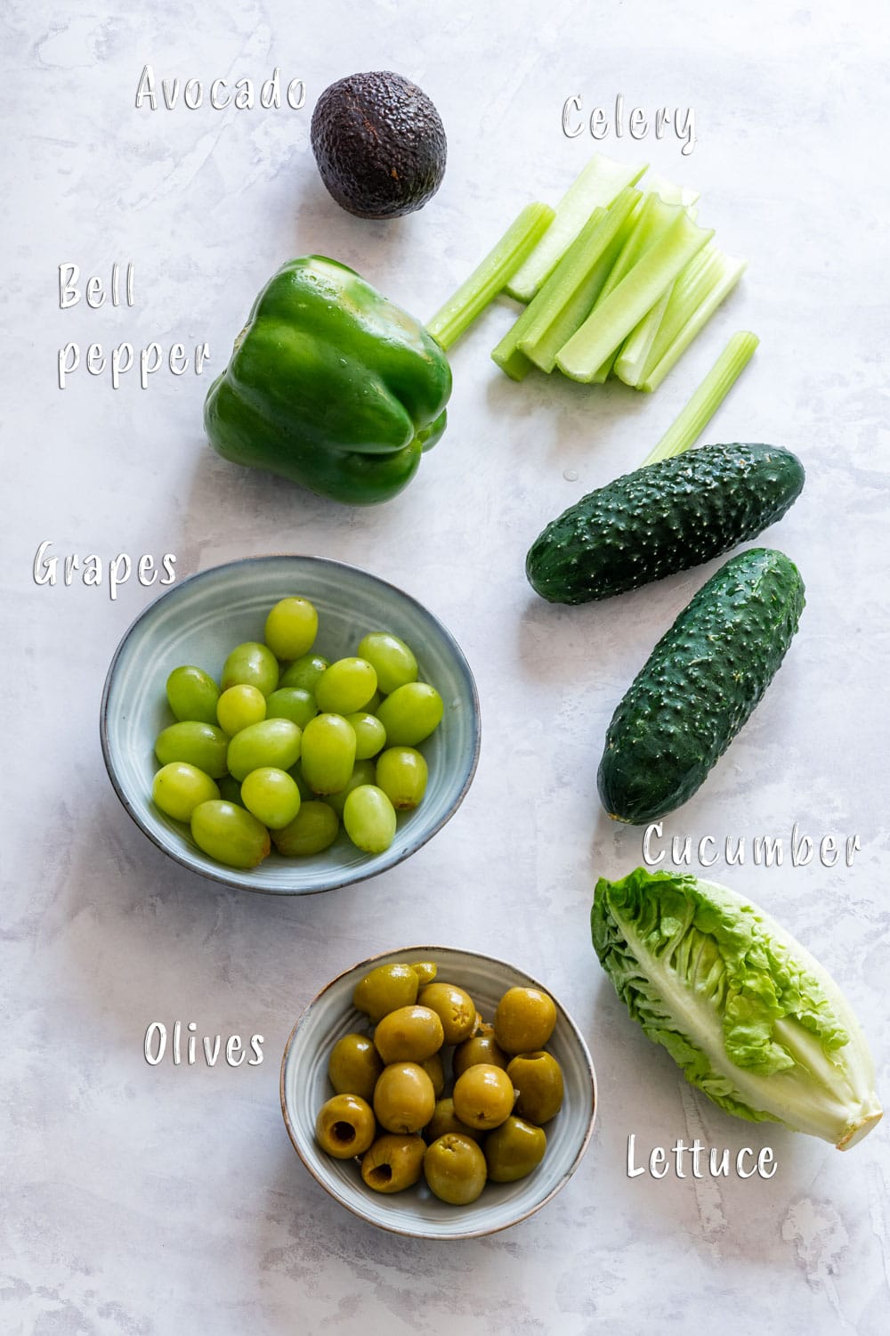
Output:
[[[516,345],[552,371],[556,353],[587,318],[615,261],[624,223],[639,191],[624,188],[608,210],[594,210],[556,269],[516,321]]]

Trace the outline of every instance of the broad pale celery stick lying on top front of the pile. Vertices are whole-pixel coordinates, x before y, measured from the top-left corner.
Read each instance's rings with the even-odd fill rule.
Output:
[[[556,358],[574,381],[590,382],[603,362],[674,282],[685,265],[714,235],[681,208],[671,227],[646,251],[616,287],[600,298]]]

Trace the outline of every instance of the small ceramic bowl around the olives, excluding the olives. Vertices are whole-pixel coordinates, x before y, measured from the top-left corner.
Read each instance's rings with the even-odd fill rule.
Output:
[[[494,1018],[500,997],[511,987],[542,989],[556,1003],[556,1026],[547,1051],[562,1067],[564,1096],[559,1113],[544,1128],[544,1158],[516,1182],[487,1182],[476,1201],[467,1206],[439,1201],[423,1177],[399,1193],[374,1192],[362,1180],[358,1160],[335,1160],[315,1140],[318,1112],[334,1094],[327,1074],[334,1045],[344,1034],[371,1033],[368,1018],[352,1006],[356,983],[378,965],[414,961],[434,961],[436,978],[466,989],[487,1021]],[[526,1220],[568,1182],[592,1134],[596,1079],[578,1026],[546,983],[488,955],[412,946],[362,961],[322,989],[287,1041],[280,1094],[284,1122],[298,1156],[316,1182],[352,1214],[412,1238],[474,1238]]]

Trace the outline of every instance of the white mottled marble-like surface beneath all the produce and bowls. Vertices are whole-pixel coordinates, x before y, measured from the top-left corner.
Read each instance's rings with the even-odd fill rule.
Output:
[[[73,12],[72,12],[73,9]],[[543,522],[634,466],[734,329],[762,346],[713,440],[799,450],[806,492],[767,534],[807,609],[745,733],[671,832],[858,834],[851,868],[731,868],[821,957],[863,1019],[886,1097],[885,426],[887,17],[878,0],[742,7],[511,0],[470,7],[223,0],[3,15],[4,751],[0,1327],[11,1336],[887,1329],[886,1130],[841,1157],[749,1126],[686,1086],[627,1019],[587,931],[592,882],[639,862],[602,816],[614,704],[707,570],[554,609],[523,557]],[[159,77],[304,77],[307,108],[133,108]],[[332,79],[395,68],[438,104],[444,184],[383,224],[340,212],[308,148]],[[691,104],[698,143],[642,147],[703,192],[749,275],[655,397],[503,379],[492,309],[455,349],[451,425],[398,501],[351,512],[238,470],[205,446],[208,377],[83,373],[68,339],[208,341],[223,365],[256,290],[319,250],[424,317],[528,198],[555,200],[594,148],[559,112]],[[630,156],[627,139],[602,146]],[[59,310],[56,270],[132,261],[136,306]],[[574,470],[576,481],[567,481]],[[37,588],[31,562],[173,552],[184,576],[268,550],[366,565],[456,633],[483,705],[479,772],[452,823],[375,882],[308,900],[227,892],[164,859],[117,804],[97,739],[113,648],[153,591]],[[721,864],[715,875],[725,872]],[[351,1218],[310,1180],[278,1109],[303,1005],[364,954],[408,941],[488,950],[552,981],[594,1053],[591,1149],[543,1212],[436,1246]],[[262,1033],[251,1069],[149,1067],[152,1019]],[[628,1180],[626,1138],[771,1145],[769,1182]]]

